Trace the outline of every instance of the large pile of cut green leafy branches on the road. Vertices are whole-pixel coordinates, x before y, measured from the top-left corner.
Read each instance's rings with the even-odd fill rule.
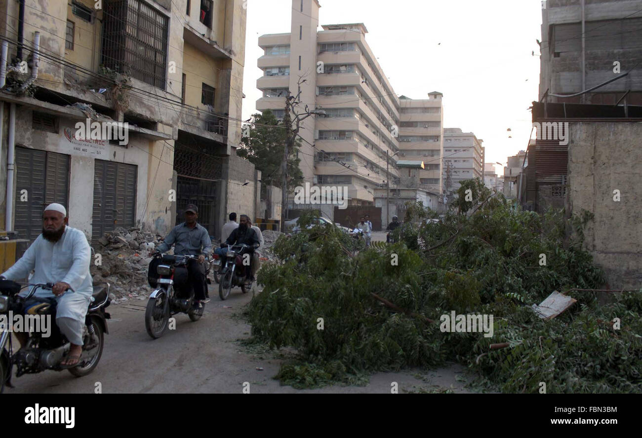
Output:
[[[464,201],[465,190],[473,201]],[[397,244],[364,250],[334,226],[302,227],[275,242],[281,263],[259,273],[265,288],[248,308],[252,335],[298,351],[277,375],[295,387],[455,360],[476,371],[481,387],[504,392],[537,392],[540,382],[547,392],[642,392],[642,291],[607,303],[574,291],[578,303],[550,321],[530,308],[555,290],[602,287],[581,246],[586,220],[515,210],[471,180],[446,217],[404,224]],[[566,236],[568,229],[576,232]],[[453,310],[492,314],[494,335],[441,332],[440,316]],[[490,350],[502,342],[509,347]]]

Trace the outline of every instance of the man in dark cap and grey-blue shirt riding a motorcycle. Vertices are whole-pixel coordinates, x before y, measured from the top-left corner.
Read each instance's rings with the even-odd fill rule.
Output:
[[[198,255],[197,260],[189,260],[187,273],[189,282],[194,288],[194,307],[201,308],[201,301],[207,294],[205,283],[205,256],[212,252],[212,240],[204,226],[196,222],[198,219],[198,207],[193,204],[187,205],[185,209],[185,222],[172,228],[165,240],[157,248],[157,251],[164,253],[169,251],[173,244],[174,255]]]

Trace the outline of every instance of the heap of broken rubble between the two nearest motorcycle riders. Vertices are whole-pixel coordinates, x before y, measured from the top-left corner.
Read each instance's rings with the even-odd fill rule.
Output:
[[[150,294],[147,267],[152,260],[149,251],[162,242],[162,236],[143,232],[140,228],[118,227],[103,234],[94,247],[96,255],[91,264],[94,282],[108,282],[113,303],[128,299],[146,299]]]

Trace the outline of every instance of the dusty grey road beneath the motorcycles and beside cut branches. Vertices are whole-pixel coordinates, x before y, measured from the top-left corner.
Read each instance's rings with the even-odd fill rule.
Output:
[[[384,237],[385,238],[385,237]],[[150,291],[151,292],[151,291]],[[145,331],[146,300],[130,300],[108,308],[110,334],[106,335],[105,350],[100,364],[89,376],[76,378],[67,371],[46,371],[38,375],[14,378],[15,388],[6,393],[91,393],[96,382],[103,393],[164,393],[164,392],[226,392],[240,393],[243,382],[250,383],[250,393],[269,392],[381,392],[390,393],[391,382],[399,383],[399,392],[413,387],[425,389],[452,388],[468,392],[461,376],[461,367],[431,371],[424,381],[413,376],[417,371],[378,373],[366,387],[325,387],[300,391],[281,386],[272,379],[279,359],[272,353],[249,353],[238,339],[250,335],[250,326],[235,313],[248,303],[252,294],[234,289],[227,300],[218,298],[218,285],[211,285],[212,300],[204,316],[195,323],[186,315],[177,316],[176,330],[169,330],[160,339],[151,339]],[[224,307],[225,306],[225,307]],[[229,307],[229,308],[227,308]],[[138,309],[141,310],[138,310]],[[263,371],[257,370],[263,368]],[[431,377],[433,376],[433,377]]]

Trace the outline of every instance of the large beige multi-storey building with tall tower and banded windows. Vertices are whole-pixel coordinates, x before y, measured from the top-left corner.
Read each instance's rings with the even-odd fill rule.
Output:
[[[259,37],[265,55],[258,60],[264,76],[257,80],[263,91],[257,110],[270,109],[282,117],[288,90],[296,96],[304,79],[300,112],[304,105],[325,111],[306,119],[299,132],[305,180],[347,186],[351,206],[378,204],[375,189],[388,183],[395,187],[398,181],[395,160],[413,160],[401,158],[411,151],[441,157],[441,96],[435,92],[419,101],[397,97],[365,40],[363,23],[325,25],[317,31],[318,1],[291,4],[290,32]],[[421,176],[437,192],[439,166],[435,162]]]

